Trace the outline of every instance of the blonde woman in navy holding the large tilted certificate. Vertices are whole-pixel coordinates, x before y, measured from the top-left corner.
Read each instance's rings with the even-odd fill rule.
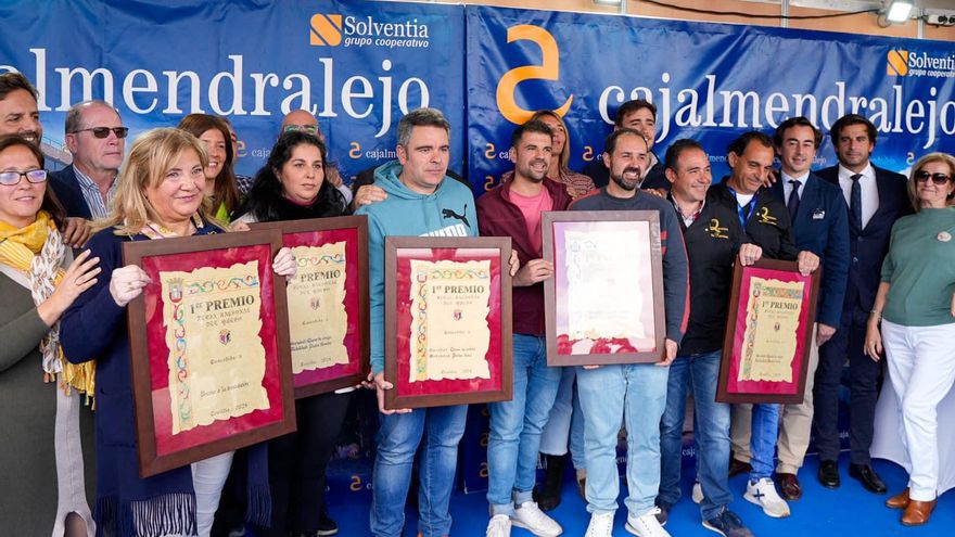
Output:
[[[93,286],[63,317],[63,349],[74,363],[96,360],[97,501],[100,535],[206,537],[233,452],[141,478],[137,449],[126,307],[151,282],[137,265],[124,265],[123,244],[221,233],[204,195],[208,156],[204,144],[180,129],[154,129],[132,144],[119,175],[110,217],[90,239],[103,269]],[[280,276],[296,271],[289,248],[272,261]],[[265,453],[263,452],[263,460]],[[268,524],[265,462],[250,477],[252,521]]]

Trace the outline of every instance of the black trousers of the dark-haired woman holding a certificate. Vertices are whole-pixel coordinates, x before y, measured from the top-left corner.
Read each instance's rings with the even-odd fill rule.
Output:
[[[269,440],[272,523],[264,535],[318,529],[324,508],[324,471],[352,394],[321,394],[295,401],[298,431]]]

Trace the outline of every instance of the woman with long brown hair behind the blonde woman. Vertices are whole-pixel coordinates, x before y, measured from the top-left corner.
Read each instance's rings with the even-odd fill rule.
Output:
[[[235,176],[232,174],[231,136],[222,119],[209,114],[189,114],[179,122],[178,128],[199,138],[205,144],[208,164],[205,167],[205,195],[212,200],[213,215],[229,223],[232,212],[239,208],[241,199]]]

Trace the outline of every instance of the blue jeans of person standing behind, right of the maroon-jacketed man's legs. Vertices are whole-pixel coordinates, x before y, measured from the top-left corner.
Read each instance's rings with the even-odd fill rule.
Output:
[[[581,412],[581,397],[577,395],[577,368],[561,368],[560,387],[550,409],[550,418],[540,434],[540,452],[545,455],[566,455],[576,470],[584,470],[584,414]],[[568,438],[570,437],[570,438]]]

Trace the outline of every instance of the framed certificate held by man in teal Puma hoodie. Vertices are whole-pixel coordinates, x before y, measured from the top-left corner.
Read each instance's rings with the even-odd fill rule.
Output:
[[[385,239],[386,408],[511,398],[510,255],[510,238]]]

